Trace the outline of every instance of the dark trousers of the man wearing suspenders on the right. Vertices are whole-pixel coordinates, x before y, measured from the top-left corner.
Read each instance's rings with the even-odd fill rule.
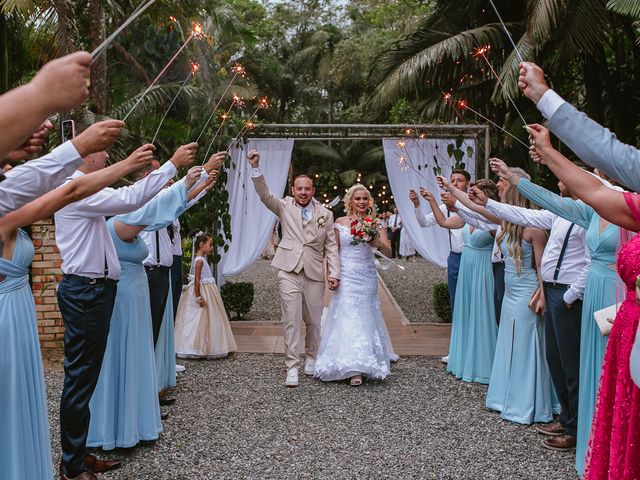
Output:
[[[551,380],[560,400],[560,423],[567,435],[576,436],[578,428],[578,385],[580,379],[580,321],[582,301],[567,308],[566,287],[544,285],[547,309],[544,313],[545,350]]]

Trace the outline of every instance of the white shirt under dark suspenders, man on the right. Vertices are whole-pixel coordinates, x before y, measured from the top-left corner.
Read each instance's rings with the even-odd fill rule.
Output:
[[[487,209],[494,215],[516,225],[551,230],[547,246],[542,254],[540,268],[542,270],[542,281],[553,282],[562,244],[567,236],[571,222],[548,210],[515,207],[495,200],[487,202]],[[587,281],[587,273],[591,264],[591,256],[585,243],[585,234],[586,232],[582,227],[574,225],[569,236],[562,265],[560,266],[560,273],[556,280],[557,283],[570,285],[564,294],[564,301],[569,305],[582,298]]]

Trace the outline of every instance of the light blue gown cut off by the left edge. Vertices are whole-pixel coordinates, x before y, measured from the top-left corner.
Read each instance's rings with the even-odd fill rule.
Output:
[[[53,479],[49,417],[29,265],[34,248],[18,230],[11,261],[0,258],[0,478]]]

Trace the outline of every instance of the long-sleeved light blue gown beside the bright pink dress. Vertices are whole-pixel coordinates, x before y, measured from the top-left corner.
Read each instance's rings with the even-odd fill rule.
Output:
[[[591,266],[582,301],[576,444],[576,470],[582,475],[608,340],[608,337],[600,334],[593,313],[616,303],[616,285],[621,285],[615,271],[619,228],[609,224],[600,232],[600,216],[589,205],[560,197],[529,181],[522,180],[518,190],[542,208],[587,230],[585,242],[591,256]]]

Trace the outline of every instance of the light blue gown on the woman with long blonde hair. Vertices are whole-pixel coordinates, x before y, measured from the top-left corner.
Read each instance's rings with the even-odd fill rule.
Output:
[[[507,237],[500,242],[504,256],[504,299],[486,405],[511,422],[550,422],[559,411],[551,374],[545,359],[544,321],[529,308],[538,287],[532,266],[533,247],[521,242],[522,264],[516,270],[507,249]]]

